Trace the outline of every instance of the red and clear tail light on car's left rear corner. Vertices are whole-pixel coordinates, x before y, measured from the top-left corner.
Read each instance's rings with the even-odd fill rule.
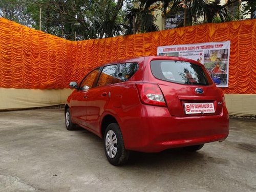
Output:
[[[163,93],[157,84],[141,83],[136,84],[140,100],[144,104],[166,106]]]

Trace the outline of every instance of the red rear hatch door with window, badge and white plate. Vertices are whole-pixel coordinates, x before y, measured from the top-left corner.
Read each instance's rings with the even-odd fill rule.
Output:
[[[202,65],[181,60],[153,60],[151,72],[173,116],[218,115],[221,90]]]

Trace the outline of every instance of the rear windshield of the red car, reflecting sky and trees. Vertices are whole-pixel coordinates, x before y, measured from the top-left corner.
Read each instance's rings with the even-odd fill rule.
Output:
[[[164,81],[202,86],[209,84],[202,67],[194,63],[177,60],[153,60],[150,66],[152,74]]]

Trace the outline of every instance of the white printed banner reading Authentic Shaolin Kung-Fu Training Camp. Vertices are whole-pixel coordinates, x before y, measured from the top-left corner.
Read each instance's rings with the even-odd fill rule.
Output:
[[[176,56],[201,62],[217,87],[228,87],[230,41],[161,46],[157,55]]]

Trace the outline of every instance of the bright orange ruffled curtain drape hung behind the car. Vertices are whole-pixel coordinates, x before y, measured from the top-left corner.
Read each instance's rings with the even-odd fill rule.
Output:
[[[255,94],[256,19],[69,41],[0,18],[0,88],[68,88],[102,63],[156,55],[158,46],[226,40],[231,45],[224,93]]]

